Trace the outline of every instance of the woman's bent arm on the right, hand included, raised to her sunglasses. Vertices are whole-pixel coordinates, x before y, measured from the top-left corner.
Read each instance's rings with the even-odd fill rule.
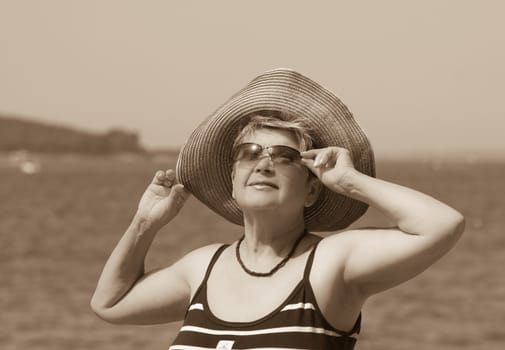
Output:
[[[318,250],[327,259],[341,259],[341,282],[363,298],[416,276],[461,236],[464,218],[446,204],[358,172],[345,149],[310,152],[306,163],[325,186],[369,204],[395,223],[390,229],[351,230],[329,236]]]

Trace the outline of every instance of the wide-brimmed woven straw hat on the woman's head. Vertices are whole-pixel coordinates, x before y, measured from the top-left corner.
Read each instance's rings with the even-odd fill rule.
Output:
[[[248,116],[261,111],[282,111],[301,118],[314,148],[344,147],[358,171],[375,176],[370,142],[338,97],[300,73],[274,69],[252,80],[203,121],[177,160],[177,180],[232,223],[243,225],[242,211],[231,196],[232,145]],[[306,226],[312,231],[343,229],[367,208],[365,203],[324,187],[316,202],[305,208]]]

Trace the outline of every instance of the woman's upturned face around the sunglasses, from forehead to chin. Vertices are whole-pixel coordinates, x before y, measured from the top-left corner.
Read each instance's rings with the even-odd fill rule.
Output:
[[[289,131],[259,129],[242,143],[260,146],[289,146],[299,150],[296,137]],[[233,165],[233,195],[242,210],[282,210],[303,215],[312,190],[309,170],[299,162],[275,162],[264,151],[257,161],[236,161]]]

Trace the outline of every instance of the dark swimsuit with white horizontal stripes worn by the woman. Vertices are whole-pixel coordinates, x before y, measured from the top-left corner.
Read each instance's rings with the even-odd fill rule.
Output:
[[[361,315],[350,332],[343,332],[331,326],[317,306],[309,282],[315,248],[307,259],[303,279],[272,313],[252,322],[227,322],[214,316],[207,303],[207,280],[226,247],[221,246],[212,257],[202,284],[188,307],[184,324],[169,350],[354,348]]]

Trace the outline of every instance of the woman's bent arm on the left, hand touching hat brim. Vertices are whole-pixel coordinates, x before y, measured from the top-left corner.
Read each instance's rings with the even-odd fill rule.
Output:
[[[188,197],[184,187],[174,182],[172,170],[156,173],[131,225],[105,264],[91,308],[107,321],[147,323],[162,315],[166,318],[167,311],[183,314],[190,296],[186,265],[181,262],[149,274],[144,271],[156,233],[177,215]]]

